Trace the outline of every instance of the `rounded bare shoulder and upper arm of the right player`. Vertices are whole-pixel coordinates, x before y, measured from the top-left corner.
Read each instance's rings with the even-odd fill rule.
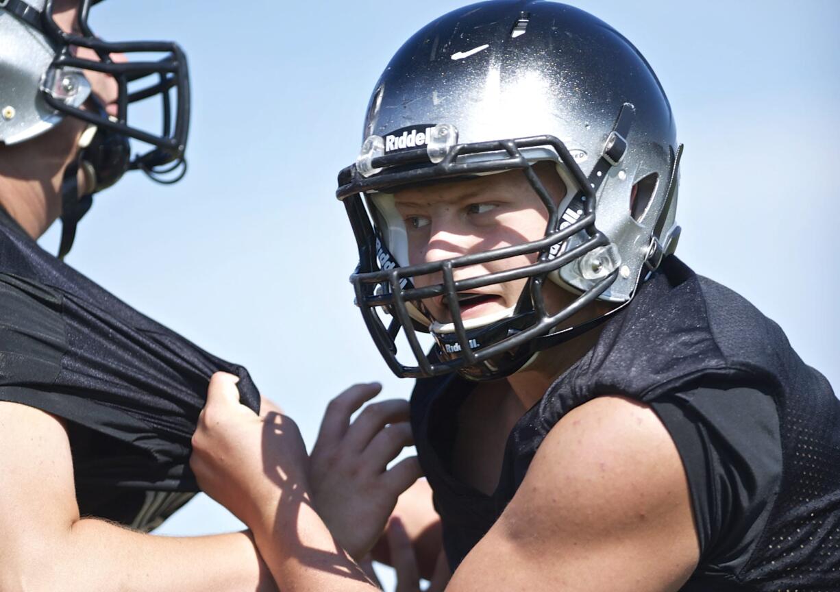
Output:
[[[549,433],[447,589],[667,592],[690,577],[699,553],[669,433],[649,407],[602,397]]]

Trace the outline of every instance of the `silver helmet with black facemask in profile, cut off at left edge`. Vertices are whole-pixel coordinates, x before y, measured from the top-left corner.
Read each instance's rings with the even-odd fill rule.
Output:
[[[0,0],[0,144],[44,134],[67,116],[89,124],[80,140],[81,158],[67,167],[62,184],[60,255],[70,249],[76,223],[91,207],[93,193],[112,186],[127,170],[143,170],[163,183],[181,179],[190,116],[186,56],[178,45],[105,41],[88,24],[88,14],[100,0],[72,2],[77,5],[76,23],[68,33],[55,22],[55,0]],[[80,57],[78,48],[97,59]],[[114,54],[126,59],[113,59]],[[116,82],[115,114],[92,94],[86,76],[92,71]],[[155,98],[160,100],[160,130],[129,123],[131,107]],[[129,139],[145,148],[132,155]],[[76,187],[78,167],[92,180],[92,191],[83,196]]]

